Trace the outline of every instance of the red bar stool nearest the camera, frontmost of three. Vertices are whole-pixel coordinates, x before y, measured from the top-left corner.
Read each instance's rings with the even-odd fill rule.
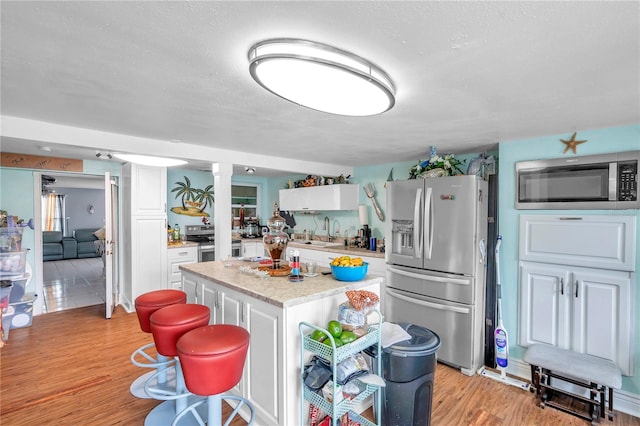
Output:
[[[206,400],[196,401],[181,411],[172,426],[184,420],[186,414],[195,417],[197,424],[208,426],[222,424],[222,401],[233,400],[237,405],[224,425],[228,425],[240,409],[246,405],[249,409],[249,424],[253,424],[253,406],[245,398],[224,395],[240,382],[244,369],[249,333],[235,325],[209,325],[185,333],[178,340],[177,349],[182,365],[187,389],[196,395],[206,396]],[[207,417],[202,418],[202,409],[206,403]],[[205,421],[206,420],[206,421]]]

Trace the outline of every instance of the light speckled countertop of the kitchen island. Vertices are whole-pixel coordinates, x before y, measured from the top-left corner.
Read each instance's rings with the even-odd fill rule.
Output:
[[[225,266],[222,261],[192,263],[180,266],[180,270],[190,272],[206,280],[255,297],[278,307],[295,306],[347,290],[356,290],[370,284],[382,283],[383,277],[367,275],[356,282],[337,281],[331,274],[316,277],[305,277],[301,282],[290,282],[287,277],[269,277],[266,279],[242,273],[239,266],[257,267],[256,263],[235,261],[232,266]],[[319,272],[329,271],[319,268]]]

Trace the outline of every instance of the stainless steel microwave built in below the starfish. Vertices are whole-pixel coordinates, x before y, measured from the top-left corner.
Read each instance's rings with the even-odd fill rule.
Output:
[[[516,209],[638,209],[640,151],[516,163]]]

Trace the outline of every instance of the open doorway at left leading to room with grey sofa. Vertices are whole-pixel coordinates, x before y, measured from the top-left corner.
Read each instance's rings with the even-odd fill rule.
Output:
[[[107,274],[105,255],[108,252],[108,263],[111,266],[114,250],[111,249],[111,244],[106,244],[108,250],[105,250],[104,229],[107,222],[117,223],[113,217],[117,216],[114,211],[117,205],[112,209],[111,203],[105,201],[106,195],[112,192],[108,173],[106,179],[105,176],[87,174],[42,174],[45,175],[45,179],[38,179],[43,184],[36,198],[46,193],[65,194],[65,197],[61,197],[65,199],[65,214],[59,229],[47,231],[47,199],[39,198],[41,217],[36,220],[35,231],[43,237],[43,243],[47,242],[51,234],[58,234],[54,240],[62,236],[66,246],[63,255],[51,256],[46,244],[37,247],[41,256],[37,255],[36,249],[36,264],[40,271],[37,275],[41,277],[38,281],[42,283],[38,294],[43,295],[39,301],[40,313],[106,304],[113,298],[107,295],[107,288],[110,287],[107,281],[111,282],[112,274]],[[107,186],[108,191],[105,190]],[[108,242],[112,243],[111,240]]]

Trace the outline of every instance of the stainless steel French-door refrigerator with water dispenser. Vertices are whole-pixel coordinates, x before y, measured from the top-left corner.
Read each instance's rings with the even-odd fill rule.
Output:
[[[487,183],[476,176],[387,182],[387,321],[438,334],[438,360],[483,364]]]

